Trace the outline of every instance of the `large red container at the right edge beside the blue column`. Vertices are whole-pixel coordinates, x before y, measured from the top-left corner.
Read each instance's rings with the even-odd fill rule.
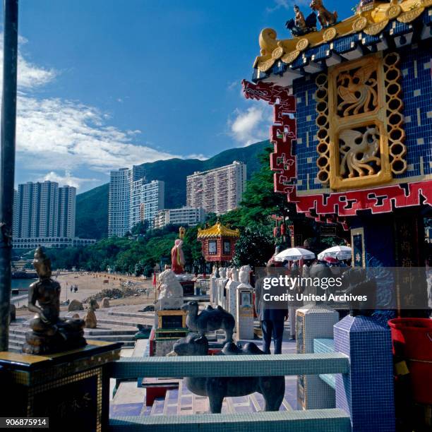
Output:
[[[393,354],[407,361],[414,400],[432,404],[432,320],[395,318],[388,325]]]

